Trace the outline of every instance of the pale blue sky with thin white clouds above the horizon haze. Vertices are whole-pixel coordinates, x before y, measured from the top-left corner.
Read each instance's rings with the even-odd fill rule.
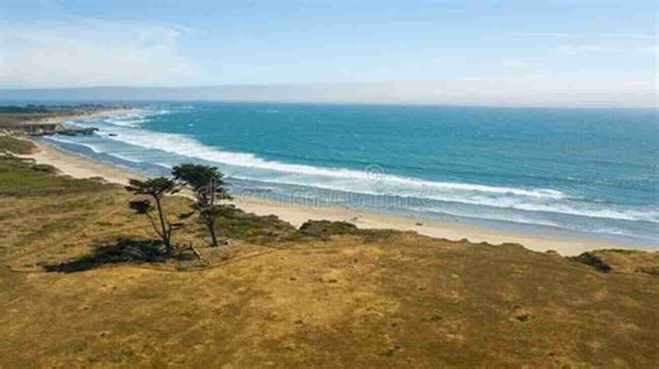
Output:
[[[1,0],[0,88],[287,86],[299,99],[324,86],[335,101],[657,106],[656,1],[538,3]]]

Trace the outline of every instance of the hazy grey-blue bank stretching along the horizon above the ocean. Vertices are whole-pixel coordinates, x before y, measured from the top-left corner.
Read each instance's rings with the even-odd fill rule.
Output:
[[[519,84],[520,86],[517,86]],[[546,88],[530,95],[521,81],[368,82],[203,87],[75,87],[0,89],[3,100],[215,100],[316,103],[403,103],[545,107],[656,107],[657,95]]]

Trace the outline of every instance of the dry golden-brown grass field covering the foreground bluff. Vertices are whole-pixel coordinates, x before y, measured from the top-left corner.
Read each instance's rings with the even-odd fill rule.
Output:
[[[129,211],[120,187],[39,175],[42,187],[64,189],[57,197],[0,195],[0,368],[659,362],[659,278],[635,272],[659,266],[656,254],[598,251],[614,268],[603,274],[520,245],[333,226],[324,229],[343,234],[301,235],[275,218],[239,213],[220,222],[226,249],[206,247],[204,228],[192,220],[175,234],[194,242],[205,262],[45,272],[81,260],[94,245],[154,233]],[[177,214],[188,203],[169,198],[166,207]]]

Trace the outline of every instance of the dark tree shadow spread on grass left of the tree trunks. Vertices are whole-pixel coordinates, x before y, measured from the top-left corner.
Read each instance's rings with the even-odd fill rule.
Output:
[[[117,243],[94,245],[94,251],[83,257],[44,265],[46,272],[84,272],[109,264],[164,263],[167,260],[191,260],[193,255],[187,253],[167,254],[159,241],[136,241],[119,239]]]

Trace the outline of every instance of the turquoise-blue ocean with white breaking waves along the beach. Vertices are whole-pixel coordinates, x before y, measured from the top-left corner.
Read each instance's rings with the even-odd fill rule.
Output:
[[[212,164],[234,195],[283,205],[659,246],[654,110],[129,103],[72,122],[97,134],[43,140],[153,176]]]

